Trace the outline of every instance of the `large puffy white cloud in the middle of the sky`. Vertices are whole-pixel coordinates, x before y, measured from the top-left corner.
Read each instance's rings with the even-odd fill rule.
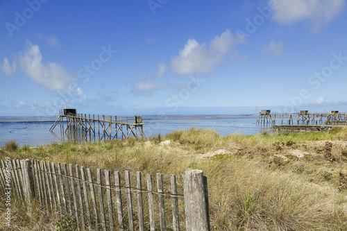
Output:
[[[223,32],[221,36],[214,37],[210,46],[189,39],[185,48],[179,51],[180,54],[172,58],[171,69],[181,75],[208,74],[221,63],[237,43],[239,40],[229,30]]]

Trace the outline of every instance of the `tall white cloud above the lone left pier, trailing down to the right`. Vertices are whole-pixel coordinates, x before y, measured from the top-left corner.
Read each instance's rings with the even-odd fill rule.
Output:
[[[19,55],[19,65],[24,74],[37,84],[55,91],[67,90],[67,83],[76,80],[76,76],[67,74],[62,65],[56,62],[42,63],[42,54],[37,45],[26,43],[26,50]]]

